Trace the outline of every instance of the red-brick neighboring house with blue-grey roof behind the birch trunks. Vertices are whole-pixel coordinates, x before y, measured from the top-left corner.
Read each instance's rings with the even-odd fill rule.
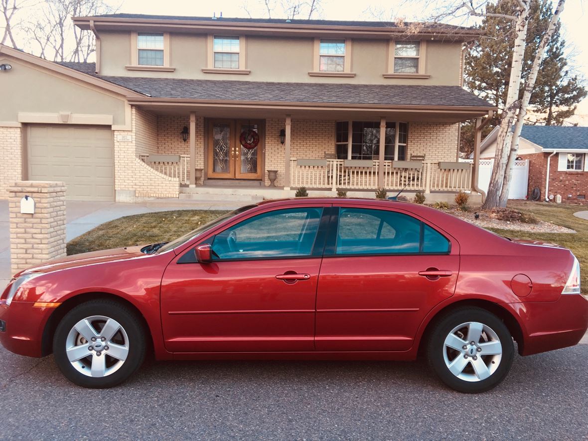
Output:
[[[497,131],[482,142],[480,158],[494,157]],[[529,159],[529,198],[537,188],[543,200],[587,203],[588,127],[523,126],[518,153]]]

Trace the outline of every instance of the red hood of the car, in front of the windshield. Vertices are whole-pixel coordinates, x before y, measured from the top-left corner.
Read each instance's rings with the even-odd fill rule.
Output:
[[[95,263],[113,262],[115,260],[132,259],[137,257],[146,257],[141,252],[143,245],[127,246],[125,248],[113,248],[89,253],[75,254],[60,259],[49,260],[42,265],[27,268],[15,275],[19,276],[26,273],[48,273],[60,269],[76,268],[79,266],[92,265]]]

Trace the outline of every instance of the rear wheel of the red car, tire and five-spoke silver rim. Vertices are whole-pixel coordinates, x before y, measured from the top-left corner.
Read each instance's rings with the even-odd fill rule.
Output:
[[[443,383],[464,393],[499,385],[509,373],[514,353],[506,325],[481,308],[458,309],[443,316],[427,344],[429,366]]]

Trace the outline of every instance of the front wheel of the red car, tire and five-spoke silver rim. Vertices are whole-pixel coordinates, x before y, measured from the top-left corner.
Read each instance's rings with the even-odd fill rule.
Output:
[[[145,329],[120,303],[91,300],[59,322],[53,353],[59,370],[72,383],[91,389],[116,386],[142,365]]]

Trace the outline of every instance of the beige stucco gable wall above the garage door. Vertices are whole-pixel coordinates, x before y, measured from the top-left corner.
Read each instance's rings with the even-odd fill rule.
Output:
[[[16,122],[19,112],[71,112],[112,115],[114,125],[125,124],[123,96],[116,97],[74,78],[0,55],[0,64],[3,63],[12,65],[12,69],[2,72],[2,91],[8,93],[2,93],[0,121]]]

